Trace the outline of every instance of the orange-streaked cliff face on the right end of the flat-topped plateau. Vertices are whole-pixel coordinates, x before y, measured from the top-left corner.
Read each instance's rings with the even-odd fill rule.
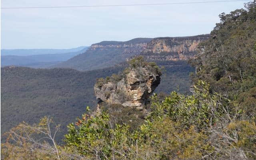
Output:
[[[198,44],[208,38],[209,35],[154,38],[143,53],[149,60],[188,60],[196,55]]]

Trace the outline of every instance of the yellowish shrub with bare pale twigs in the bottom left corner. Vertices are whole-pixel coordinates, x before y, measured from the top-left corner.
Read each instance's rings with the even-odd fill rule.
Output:
[[[6,142],[1,144],[1,157],[60,160],[59,146],[55,141],[60,125],[56,125],[54,131],[52,127],[52,119],[49,117],[43,117],[38,125],[20,123],[4,134]]]

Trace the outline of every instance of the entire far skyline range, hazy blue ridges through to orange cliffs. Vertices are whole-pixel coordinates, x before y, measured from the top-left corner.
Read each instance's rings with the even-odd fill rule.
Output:
[[[75,49],[1,50],[1,66],[72,68],[87,71],[114,66],[136,55],[143,55],[150,61],[188,60],[196,54],[197,45],[208,38],[209,35],[207,34],[187,37],[157,37],[154,39],[135,38],[124,42],[102,41],[92,44],[90,47]],[[72,52],[67,53],[66,51]],[[38,55],[38,53],[47,54]],[[27,56],[18,56],[25,54]]]

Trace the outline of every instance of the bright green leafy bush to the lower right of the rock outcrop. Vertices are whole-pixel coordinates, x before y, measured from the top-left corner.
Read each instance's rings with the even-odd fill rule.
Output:
[[[217,117],[222,114],[220,111],[222,97],[219,94],[210,94],[209,84],[203,81],[199,81],[197,86],[194,86],[196,93],[192,96],[186,97],[174,91],[162,102],[154,94],[152,105],[156,112],[150,114],[150,117],[155,119],[168,115],[186,129],[189,129],[191,125],[195,125],[199,130],[213,125],[218,121]]]

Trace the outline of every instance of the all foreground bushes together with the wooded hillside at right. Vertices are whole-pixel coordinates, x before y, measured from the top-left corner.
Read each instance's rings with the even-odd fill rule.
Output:
[[[154,94],[140,126],[86,107],[68,125],[63,146],[54,140],[60,126],[50,131],[52,120],[44,117],[6,133],[1,158],[256,159],[256,1],[220,14],[210,35],[190,60],[193,94]]]

